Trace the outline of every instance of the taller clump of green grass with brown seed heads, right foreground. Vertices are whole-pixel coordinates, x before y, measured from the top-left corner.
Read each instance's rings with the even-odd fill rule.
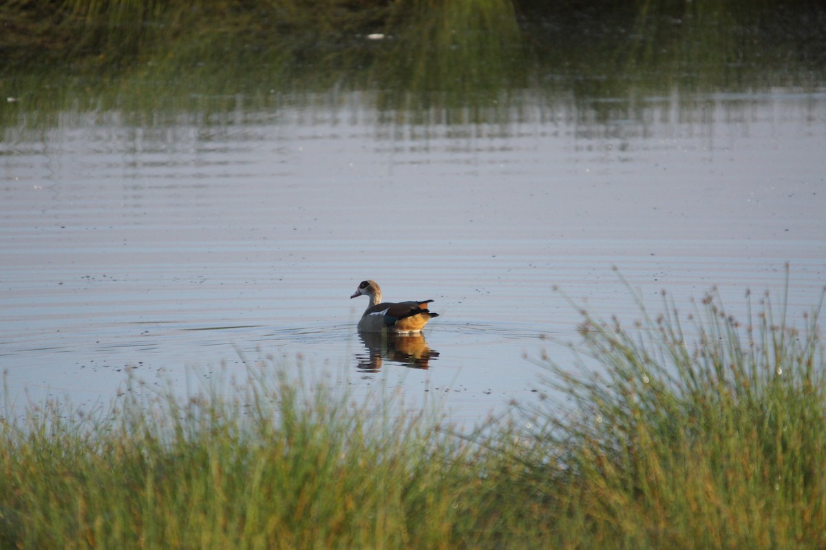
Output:
[[[768,295],[742,325],[714,293],[686,317],[665,302],[634,330],[583,311],[577,349],[596,367],[548,363],[572,405],[539,411],[537,445],[566,468],[526,482],[593,543],[821,548],[822,301],[800,330]]]

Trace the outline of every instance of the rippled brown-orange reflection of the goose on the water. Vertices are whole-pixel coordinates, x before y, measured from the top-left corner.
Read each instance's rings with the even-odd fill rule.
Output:
[[[385,359],[406,367],[429,368],[430,360],[439,357],[439,352],[430,349],[420,333],[360,332],[358,336],[364,343],[364,353],[355,354],[361,372],[378,372]]]

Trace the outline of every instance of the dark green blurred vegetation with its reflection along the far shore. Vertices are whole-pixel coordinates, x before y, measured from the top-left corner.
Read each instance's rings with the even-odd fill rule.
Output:
[[[369,92],[391,121],[501,121],[526,89],[540,102],[566,97],[599,111],[618,104],[595,100],[634,109],[641,97],[675,89],[819,85],[826,11],[805,0],[784,6],[12,0],[0,7],[9,61],[0,88],[26,101],[0,111],[0,125],[32,109],[35,117],[69,106],[159,116],[270,109],[342,90]]]

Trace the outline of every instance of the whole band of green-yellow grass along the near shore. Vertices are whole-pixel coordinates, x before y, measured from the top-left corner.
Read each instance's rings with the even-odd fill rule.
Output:
[[[7,414],[0,547],[824,548],[822,301],[800,329],[783,303],[740,324],[713,293],[666,299],[631,329],[582,311],[581,364],[541,359],[527,431],[451,433],[268,363],[186,399]]]

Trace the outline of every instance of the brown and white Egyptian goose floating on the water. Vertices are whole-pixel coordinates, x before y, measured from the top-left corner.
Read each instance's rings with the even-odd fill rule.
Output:
[[[370,297],[370,305],[358,320],[358,330],[362,332],[420,332],[427,321],[439,315],[427,309],[433,300],[382,303],[382,289],[375,281],[362,281],[350,297],[362,295]]]

